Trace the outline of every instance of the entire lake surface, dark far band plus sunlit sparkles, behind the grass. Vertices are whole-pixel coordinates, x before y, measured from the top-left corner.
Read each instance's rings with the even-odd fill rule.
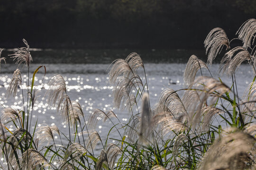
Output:
[[[44,98],[47,83],[49,79],[56,73],[64,76],[68,95],[73,101],[77,101],[81,104],[85,117],[91,114],[93,109],[101,110],[113,110],[117,114],[119,120],[123,123],[127,123],[131,113],[127,110],[118,110],[113,107],[112,89],[108,83],[108,68],[110,63],[115,59],[125,59],[126,56],[133,51],[130,50],[44,50],[44,51],[31,51],[33,62],[31,64],[31,73],[39,65],[46,66],[46,76],[43,79],[43,69],[39,70],[36,76],[35,88],[38,88],[38,100],[35,105],[32,118],[32,126],[42,126],[43,124],[57,125],[59,129],[68,135],[67,125],[64,123],[61,116],[57,114],[56,107],[48,106],[46,99]],[[146,53],[148,52],[148,53]],[[4,51],[1,57],[7,57],[10,51]],[[146,62],[146,74],[149,87],[150,102],[153,106],[165,88],[173,88],[178,90],[183,88],[183,71],[186,67],[185,62],[192,54],[205,55],[204,51],[185,51],[185,50],[140,50],[142,59]],[[197,54],[196,54],[197,55]],[[200,58],[200,55],[197,55]],[[5,98],[5,93],[12,77],[13,71],[17,68],[10,59],[7,59],[7,65],[1,64],[0,72],[0,105],[5,107],[14,107],[22,109],[21,91],[18,90],[17,97]],[[20,65],[19,68],[22,72],[23,82],[27,81],[27,68]],[[218,78],[218,64],[213,64],[210,67],[213,77]],[[142,70],[138,73],[144,77]],[[209,76],[208,71],[203,69],[203,75]],[[243,64],[238,69],[236,74],[238,93],[242,96],[247,85],[253,80],[253,72],[251,67],[247,64]],[[43,79],[43,81],[42,81]],[[145,79],[144,79],[145,80]],[[232,79],[230,77],[223,76],[222,80],[227,85],[231,86]],[[40,84],[42,83],[42,84]],[[24,89],[26,86],[24,85]],[[179,92],[179,95],[183,95],[183,92]],[[26,101],[26,100],[25,100]],[[140,109],[140,108],[139,108]],[[2,110],[2,108],[0,109]],[[9,124],[10,129],[14,127]],[[99,121],[97,125],[97,131],[102,137],[103,141],[106,139],[107,133],[112,127],[111,122]],[[33,127],[32,127],[33,128]],[[120,136],[116,132],[110,133],[110,137],[120,139]],[[59,141],[59,137],[55,136],[56,141]],[[62,138],[64,139],[64,138]],[[116,143],[114,139],[109,140],[109,143]],[[101,151],[100,143],[96,147],[97,151]],[[99,153],[99,152],[96,152]],[[95,152],[94,152],[95,153]]]

